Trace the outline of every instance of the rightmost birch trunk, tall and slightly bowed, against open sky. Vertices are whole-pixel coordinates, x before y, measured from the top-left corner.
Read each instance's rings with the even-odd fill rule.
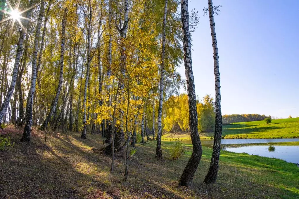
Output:
[[[214,58],[214,76],[215,76],[215,133],[214,133],[214,146],[212,159],[210,163],[210,168],[208,174],[205,177],[204,183],[211,184],[215,183],[217,179],[218,169],[219,169],[219,155],[220,155],[220,144],[222,136],[222,115],[221,115],[221,95],[220,95],[220,72],[219,72],[219,55],[215,31],[215,22],[213,16],[213,2],[212,0],[208,1],[209,4],[209,18],[210,18],[210,28],[212,36],[212,45],[213,45],[213,58]]]

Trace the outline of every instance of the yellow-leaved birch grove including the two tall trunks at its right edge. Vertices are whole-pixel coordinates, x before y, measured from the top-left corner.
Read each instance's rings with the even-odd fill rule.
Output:
[[[201,160],[199,131],[213,130],[205,183],[214,183],[222,115],[213,5],[209,0],[215,106],[209,95],[196,99],[194,24],[187,3],[0,1],[5,8],[0,10],[1,128],[22,129],[22,142],[41,134],[45,147],[49,135],[75,136],[82,143],[100,137],[103,145],[93,150],[111,158],[110,172],[119,172],[118,159],[125,158],[123,182],[135,164],[131,157],[136,148],[151,141],[152,158],[160,161],[168,154],[163,138],[190,131],[193,152],[179,179],[182,186],[191,185]],[[177,71],[182,63],[185,77]]]

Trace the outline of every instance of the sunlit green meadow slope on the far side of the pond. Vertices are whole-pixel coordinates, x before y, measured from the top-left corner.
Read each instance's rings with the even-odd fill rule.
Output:
[[[213,133],[200,133],[201,139],[212,139]],[[222,127],[224,139],[237,138],[299,138],[299,118],[272,120],[271,124],[265,121],[240,122]],[[190,133],[169,133],[162,139],[190,140]]]

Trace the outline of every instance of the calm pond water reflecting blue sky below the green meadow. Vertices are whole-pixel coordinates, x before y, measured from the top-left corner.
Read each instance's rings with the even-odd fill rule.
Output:
[[[191,141],[183,141],[192,144]],[[271,145],[277,142],[298,142],[295,146]],[[265,143],[264,145],[257,145]],[[299,138],[293,139],[222,139],[222,150],[249,155],[260,155],[269,158],[279,158],[291,163],[299,163]],[[213,148],[213,140],[202,140],[203,146]]]

